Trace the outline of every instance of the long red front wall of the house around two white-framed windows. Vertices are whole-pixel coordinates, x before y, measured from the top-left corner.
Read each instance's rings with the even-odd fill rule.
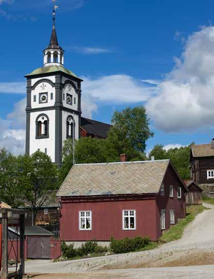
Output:
[[[122,210],[136,210],[136,230],[123,230]],[[79,230],[79,211],[92,211],[92,230]],[[150,236],[157,239],[155,220],[155,199],[143,200],[62,200],[61,239],[66,241],[84,241],[96,239],[110,240],[126,236]]]

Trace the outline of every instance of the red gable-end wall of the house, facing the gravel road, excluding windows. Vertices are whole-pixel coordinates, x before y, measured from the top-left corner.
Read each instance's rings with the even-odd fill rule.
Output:
[[[156,219],[157,222],[157,233],[158,238],[162,235],[160,219],[161,210],[165,210],[165,229],[170,228],[170,216],[169,210],[174,210],[174,221],[178,222],[178,218],[184,218],[186,216],[186,205],[185,205],[185,191],[184,186],[178,177],[175,175],[174,170],[171,166],[168,167],[164,177],[164,196],[160,194],[157,196],[156,206]],[[173,186],[173,197],[169,197],[169,185]],[[177,187],[181,187],[181,198],[177,198]]]

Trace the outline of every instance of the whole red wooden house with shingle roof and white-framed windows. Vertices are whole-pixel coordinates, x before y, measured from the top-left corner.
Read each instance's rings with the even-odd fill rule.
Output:
[[[59,191],[61,239],[157,240],[185,217],[187,188],[170,160],[74,165]]]

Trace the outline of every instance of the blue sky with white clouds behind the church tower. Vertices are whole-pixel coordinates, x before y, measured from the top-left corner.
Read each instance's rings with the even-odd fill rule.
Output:
[[[83,116],[111,122],[143,105],[165,149],[214,137],[214,2],[56,0],[65,67],[81,77]],[[0,148],[25,150],[26,80],[43,65],[51,0],[0,0]]]

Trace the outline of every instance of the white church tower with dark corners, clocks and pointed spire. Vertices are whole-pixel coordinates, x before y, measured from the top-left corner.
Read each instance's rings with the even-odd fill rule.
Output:
[[[26,154],[47,153],[58,167],[66,138],[79,139],[81,81],[64,67],[64,50],[55,29],[55,7],[50,44],[43,51],[43,67],[27,78]]]

